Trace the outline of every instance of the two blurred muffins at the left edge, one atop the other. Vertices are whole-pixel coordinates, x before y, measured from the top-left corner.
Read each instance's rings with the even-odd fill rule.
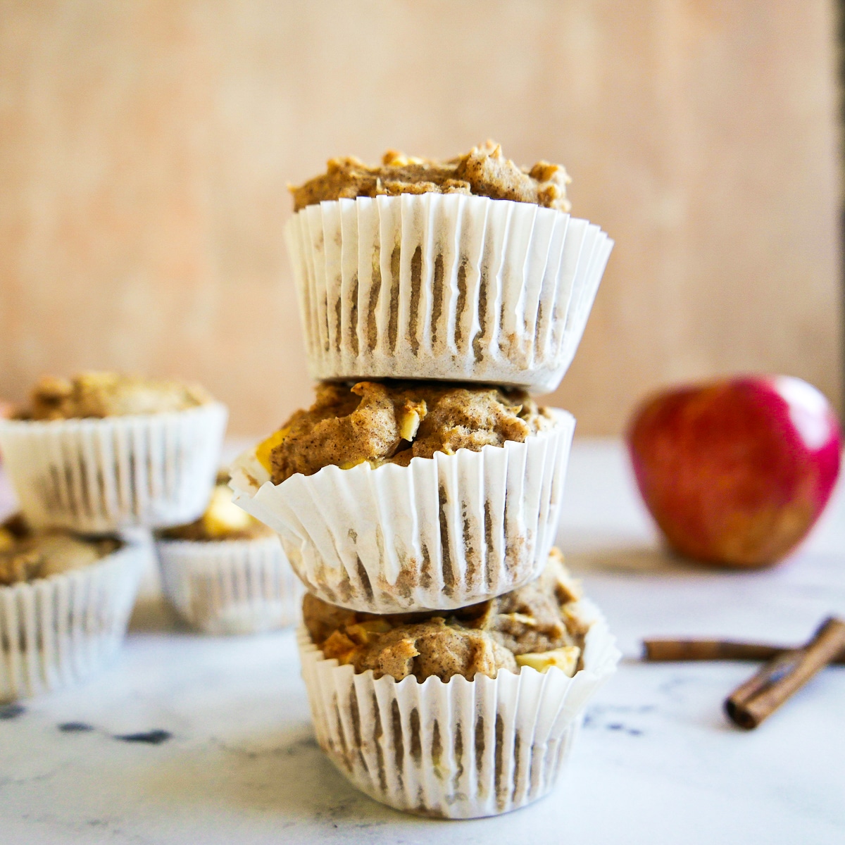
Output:
[[[0,419],[21,515],[0,527],[0,701],[100,668],[123,641],[150,529],[208,503],[226,407],[116,373],[42,379]]]

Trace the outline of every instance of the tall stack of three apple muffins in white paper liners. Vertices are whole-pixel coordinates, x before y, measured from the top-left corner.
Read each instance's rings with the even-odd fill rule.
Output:
[[[568,368],[613,245],[566,213],[568,181],[488,143],[293,189],[317,401],[231,483],[308,590],[320,745],[401,810],[547,793],[618,659],[552,548],[575,420],[526,392]]]

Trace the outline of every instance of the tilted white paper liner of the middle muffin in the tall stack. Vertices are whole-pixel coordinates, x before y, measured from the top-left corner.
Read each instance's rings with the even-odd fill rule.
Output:
[[[324,466],[274,485],[254,450],[232,465],[233,501],[279,532],[293,569],[326,602],[368,613],[446,610],[539,575],[557,532],[575,418],[524,443]]]

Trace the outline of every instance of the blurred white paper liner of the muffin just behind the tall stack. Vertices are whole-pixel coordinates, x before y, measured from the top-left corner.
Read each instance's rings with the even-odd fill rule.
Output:
[[[297,622],[303,586],[278,537],[159,540],[164,594],[177,613],[209,634],[257,634]]]

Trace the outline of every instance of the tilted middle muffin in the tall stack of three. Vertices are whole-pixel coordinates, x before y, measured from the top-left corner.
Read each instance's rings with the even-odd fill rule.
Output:
[[[542,570],[575,419],[521,390],[320,384],[232,466],[308,591],[368,613],[499,596]]]

